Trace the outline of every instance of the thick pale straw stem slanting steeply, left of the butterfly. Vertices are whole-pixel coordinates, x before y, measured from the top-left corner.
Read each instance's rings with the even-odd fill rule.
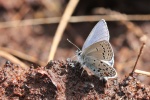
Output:
[[[69,22],[69,19],[74,11],[74,9],[76,8],[77,4],[78,4],[79,0],[70,0],[67,8],[62,16],[62,19],[60,21],[60,24],[58,25],[58,29],[56,30],[56,34],[54,36],[53,42],[52,42],[52,46],[51,46],[51,51],[49,53],[49,57],[48,57],[48,62],[50,60],[53,60],[54,55],[56,53],[56,49],[58,47],[58,44],[61,40],[61,37],[63,35],[63,32],[67,26],[67,23]]]

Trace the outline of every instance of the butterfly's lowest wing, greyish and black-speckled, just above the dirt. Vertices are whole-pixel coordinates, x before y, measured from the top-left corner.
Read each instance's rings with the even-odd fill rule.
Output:
[[[108,64],[99,61],[95,57],[85,57],[85,65],[98,77],[115,78],[117,72],[113,67]]]

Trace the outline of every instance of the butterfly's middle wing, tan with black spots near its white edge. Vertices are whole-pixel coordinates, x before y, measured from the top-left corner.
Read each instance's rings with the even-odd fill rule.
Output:
[[[111,44],[106,40],[99,41],[87,47],[84,49],[82,55],[86,57],[94,57],[97,60],[103,61],[109,66],[113,67],[114,52]]]

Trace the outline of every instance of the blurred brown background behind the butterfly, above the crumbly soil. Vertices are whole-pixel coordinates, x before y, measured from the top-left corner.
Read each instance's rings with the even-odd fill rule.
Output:
[[[0,0],[0,65],[11,60],[10,54],[23,63],[47,63],[52,42],[69,0]],[[81,18],[82,16],[82,18]],[[74,18],[74,19],[73,19]],[[142,42],[140,37],[150,37],[149,0],[80,0],[73,10],[60,43],[55,60],[66,60],[75,55],[95,24],[105,19],[110,32],[110,43],[115,53],[119,77],[127,76],[133,69]],[[137,69],[150,72],[150,40],[138,61]],[[23,53],[23,54],[22,54]],[[32,60],[28,58],[33,58]],[[150,78],[139,75],[145,84]]]

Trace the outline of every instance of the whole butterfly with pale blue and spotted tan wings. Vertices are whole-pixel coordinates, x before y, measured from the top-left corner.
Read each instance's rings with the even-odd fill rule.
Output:
[[[117,72],[113,68],[114,52],[109,43],[109,31],[104,19],[100,20],[92,29],[83,44],[82,50],[78,48],[76,56],[83,68],[99,78],[115,78]]]

